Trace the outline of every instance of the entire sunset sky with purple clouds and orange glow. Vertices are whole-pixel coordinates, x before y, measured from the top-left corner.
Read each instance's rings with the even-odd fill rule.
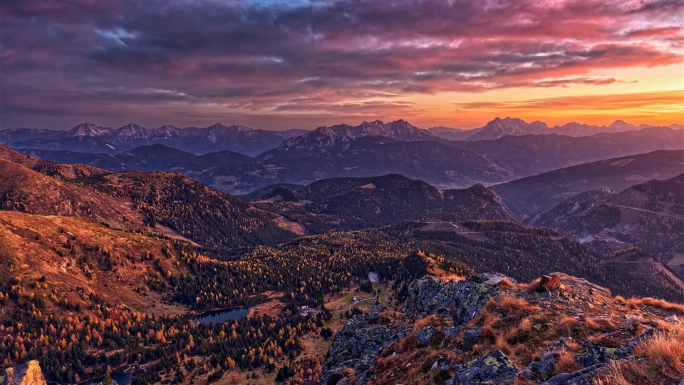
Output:
[[[684,123],[682,0],[3,0],[0,128]]]

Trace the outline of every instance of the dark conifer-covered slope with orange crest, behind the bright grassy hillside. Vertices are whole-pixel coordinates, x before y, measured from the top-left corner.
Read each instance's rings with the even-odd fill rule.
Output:
[[[170,227],[212,250],[271,245],[294,236],[278,227],[273,215],[176,173],[124,172],[77,183],[127,197],[146,225]]]

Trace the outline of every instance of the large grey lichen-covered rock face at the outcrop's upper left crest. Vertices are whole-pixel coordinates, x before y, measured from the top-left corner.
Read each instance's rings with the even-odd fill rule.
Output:
[[[411,282],[403,312],[413,317],[425,317],[427,314],[450,316],[455,326],[460,327],[480,313],[487,299],[499,293],[500,289],[484,284],[484,281],[478,283],[426,276]]]

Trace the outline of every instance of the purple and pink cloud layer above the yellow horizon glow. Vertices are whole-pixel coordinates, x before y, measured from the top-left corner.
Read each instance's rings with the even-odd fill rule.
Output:
[[[41,109],[333,111],[407,93],[608,84],[620,80],[588,74],[680,61],[682,10],[681,1],[4,1],[3,125]]]

